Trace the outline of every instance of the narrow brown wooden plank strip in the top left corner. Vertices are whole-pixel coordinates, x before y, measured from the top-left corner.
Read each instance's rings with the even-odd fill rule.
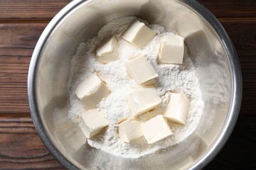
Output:
[[[0,23],[49,21],[71,0],[0,0]]]

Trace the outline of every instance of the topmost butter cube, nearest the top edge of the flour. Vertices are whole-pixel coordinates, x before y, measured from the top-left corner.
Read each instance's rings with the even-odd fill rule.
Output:
[[[125,30],[122,38],[131,42],[133,45],[142,48],[147,43],[149,43],[156,33],[149,27],[145,26],[144,23],[139,21],[134,21],[127,30]]]

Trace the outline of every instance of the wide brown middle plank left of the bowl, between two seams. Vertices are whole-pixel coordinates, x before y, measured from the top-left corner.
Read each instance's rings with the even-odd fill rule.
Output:
[[[0,23],[0,116],[30,116],[28,67],[47,23]]]

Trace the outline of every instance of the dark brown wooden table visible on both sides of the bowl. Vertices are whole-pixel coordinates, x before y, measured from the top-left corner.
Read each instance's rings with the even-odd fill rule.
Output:
[[[69,0],[0,0],[0,169],[64,169],[28,110],[28,65],[43,29]],[[201,0],[233,40],[243,77],[238,123],[205,169],[256,169],[256,1]]]

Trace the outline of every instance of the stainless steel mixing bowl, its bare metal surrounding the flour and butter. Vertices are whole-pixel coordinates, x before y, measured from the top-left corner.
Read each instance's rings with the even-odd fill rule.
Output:
[[[183,142],[139,159],[91,148],[68,120],[70,59],[80,42],[114,18],[137,16],[186,37],[205,106]],[[43,31],[28,73],[31,116],[43,143],[68,169],[201,169],[220,151],[240,110],[242,78],[230,38],[210,11],[191,0],[72,1]]]

